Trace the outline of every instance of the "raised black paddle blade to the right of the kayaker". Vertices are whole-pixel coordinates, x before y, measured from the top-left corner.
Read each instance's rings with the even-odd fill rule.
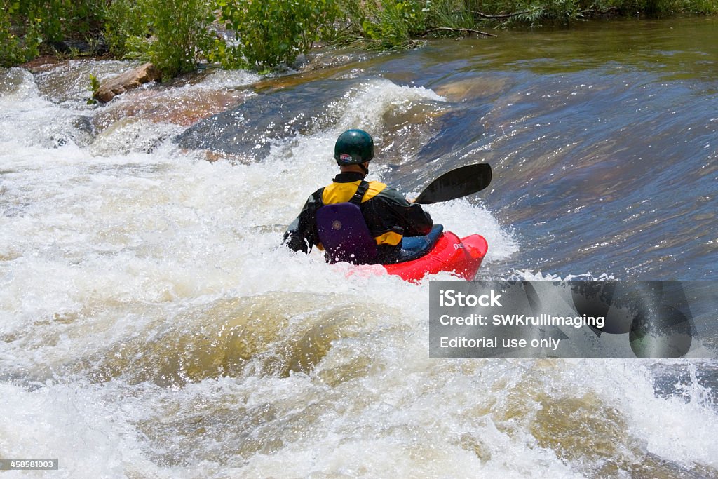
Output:
[[[469,164],[452,169],[429,183],[414,203],[430,205],[440,201],[455,200],[488,187],[491,182],[491,166],[488,163]]]

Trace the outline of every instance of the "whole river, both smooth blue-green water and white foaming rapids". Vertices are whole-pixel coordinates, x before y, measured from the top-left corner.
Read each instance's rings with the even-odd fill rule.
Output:
[[[277,226],[358,126],[408,195],[492,164],[488,190],[426,208],[488,239],[480,278],[718,279],[717,31],[500,32],[108,106],[89,73],[133,64],[0,70],[0,457],[58,478],[717,476],[717,363],[430,360],[428,280],[292,254]]]

